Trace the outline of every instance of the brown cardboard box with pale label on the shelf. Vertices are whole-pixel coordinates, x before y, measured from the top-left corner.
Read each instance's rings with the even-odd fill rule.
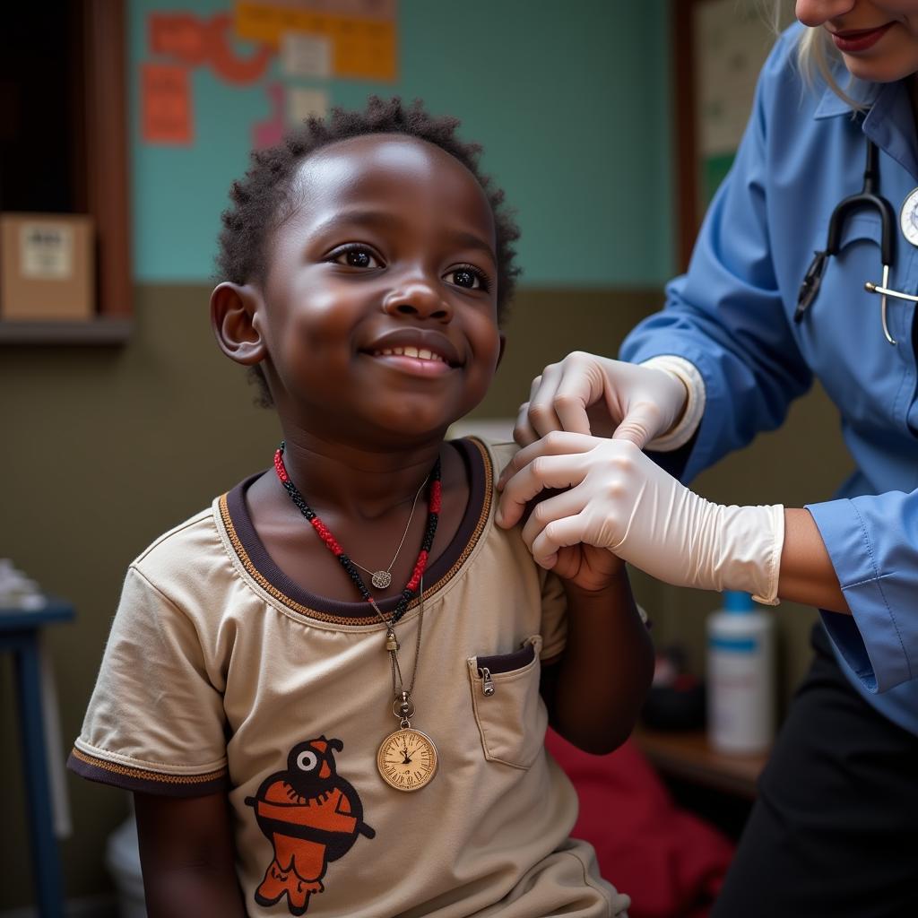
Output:
[[[0,320],[94,317],[92,218],[0,214]]]

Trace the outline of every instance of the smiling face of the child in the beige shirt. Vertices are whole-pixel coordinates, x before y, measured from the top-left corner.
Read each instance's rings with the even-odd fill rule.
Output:
[[[484,397],[502,349],[494,217],[475,177],[386,134],[310,156],[292,193],[256,319],[277,408],[345,441],[442,432]]]

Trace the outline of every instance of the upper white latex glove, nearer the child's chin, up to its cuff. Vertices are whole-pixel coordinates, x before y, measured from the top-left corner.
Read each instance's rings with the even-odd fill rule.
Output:
[[[551,431],[571,431],[643,447],[673,427],[687,397],[675,375],[575,351],[532,380],[513,436],[527,446]]]

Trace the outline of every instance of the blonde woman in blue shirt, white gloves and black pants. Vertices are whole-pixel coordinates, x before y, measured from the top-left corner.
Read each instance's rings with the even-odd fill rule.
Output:
[[[793,701],[713,914],[918,915],[918,2],[798,0],[689,272],[621,361],[570,354],[523,405],[499,521],[552,567],[601,545],[669,583],[817,606]],[[891,204],[830,217],[864,182]],[[904,233],[904,234],[903,234]],[[810,290],[812,283],[804,293]],[[894,341],[895,343],[891,343]],[[833,500],[723,507],[684,487],[818,378],[856,470]],[[644,449],[650,451],[649,458]]]

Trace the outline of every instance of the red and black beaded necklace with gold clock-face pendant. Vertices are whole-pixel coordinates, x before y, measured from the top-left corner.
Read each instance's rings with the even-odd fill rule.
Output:
[[[379,750],[376,753],[376,767],[379,769],[379,774],[382,776],[383,780],[386,781],[386,784],[396,790],[420,790],[431,782],[439,764],[437,747],[433,744],[433,740],[431,740],[431,737],[428,736],[427,733],[422,733],[416,727],[412,727],[410,719],[415,714],[415,704],[412,698],[412,692],[414,691],[415,678],[418,675],[420,636],[424,624],[424,570],[427,567],[431,545],[433,544],[433,537],[437,532],[437,522],[440,519],[440,458],[437,458],[430,476],[424,479],[424,484],[430,481],[431,488],[428,497],[427,527],[424,531],[424,538],[420,545],[418,560],[415,562],[408,583],[405,584],[405,588],[402,589],[398,597],[395,610],[386,618],[382,610],[379,609],[379,606],[376,605],[375,599],[370,595],[370,591],[366,588],[363,578],[357,572],[358,565],[355,565],[351,558],[349,558],[347,554],[344,554],[344,550],[331,534],[329,528],[325,523],[319,520],[315,510],[309,507],[306,498],[297,490],[297,486],[291,480],[284,465],[284,448],[285,443],[281,442],[274,453],[274,471],[277,473],[277,477],[280,479],[281,484],[284,486],[287,494],[297,506],[300,513],[306,517],[309,524],[318,533],[319,538],[329,549],[331,554],[334,554],[338,559],[341,566],[347,572],[348,577],[351,577],[360,595],[373,607],[379,620],[386,625],[386,653],[389,655],[389,661],[392,667],[392,713],[398,720],[398,729],[389,733],[379,745]],[[423,490],[423,487],[424,485],[422,484],[418,491],[418,495],[420,495],[420,491]],[[415,504],[417,504],[417,501],[418,498],[415,497]],[[414,513],[413,507],[411,512],[412,514]],[[402,536],[402,543],[404,543],[407,535],[408,530],[406,529],[405,536]],[[401,544],[399,544],[398,548],[399,550],[401,549]],[[396,552],[396,556],[397,554]],[[395,558],[392,559],[392,564],[395,564]],[[391,566],[392,565],[389,565],[390,569]],[[362,568],[362,570],[365,571],[366,568]],[[369,573],[369,571],[367,571],[367,573]],[[391,582],[391,575],[389,575],[388,571],[382,573],[385,573]],[[405,680],[402,677],[401,667],[398,665],[399,645],[395,626],[397,622],[401,620],[405,612],[408,611],[409,602],[418,595],[419,589],[420,614],[418,616],[418,639],[415,644],[414,667],[411,673],[411,682],[406,686]]]

